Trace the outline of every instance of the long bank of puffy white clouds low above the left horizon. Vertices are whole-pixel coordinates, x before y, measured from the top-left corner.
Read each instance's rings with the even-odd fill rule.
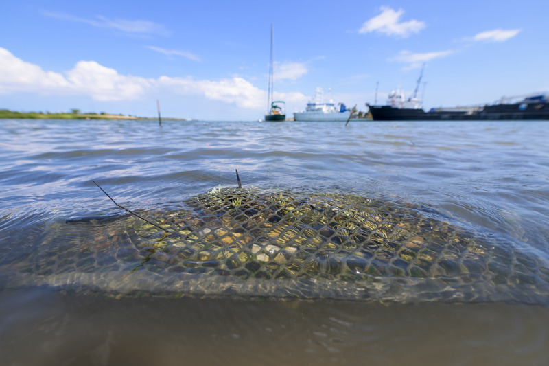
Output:
[[[138,100],[147,93],[158,93],[159,89],[176,94],[198,95],[252,110],[263,109],[267,100],[266,91],[237,76],[221,80],[169,76],[142,78],[121,75],[115,69],[95,61],[79,61],[71,70],[62,74],[44,71],[38,65],[25,62],[0,47],[0,94],[25,92],[79,95],[98,101],[120,101]],[[275,98],[300,104],[306,100],[301,93],[275,93]]]

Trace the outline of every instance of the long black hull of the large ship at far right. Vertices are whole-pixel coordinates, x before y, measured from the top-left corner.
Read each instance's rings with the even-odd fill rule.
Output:
[[[369,106],[375,121],[445,121],[549,119],[549,103],[496,104],[478,111],[429,111],[393,106]]]

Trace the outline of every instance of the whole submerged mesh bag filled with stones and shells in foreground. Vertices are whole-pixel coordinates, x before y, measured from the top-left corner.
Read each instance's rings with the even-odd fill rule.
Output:
[[[139,211],[152,223],[126,215],[52,225],[30,253],[0,264],[0,284],[139,296],[549,304],[546,259],[430,207],[222,189],[180,208]]]

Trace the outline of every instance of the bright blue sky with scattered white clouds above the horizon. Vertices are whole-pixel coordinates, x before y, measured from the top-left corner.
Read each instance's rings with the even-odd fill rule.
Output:
[[[394,89],[425,110],[549,91],[549,1],[0,3],[0,109],[258,120]],[[423,78],[417,84],[423,68]]]

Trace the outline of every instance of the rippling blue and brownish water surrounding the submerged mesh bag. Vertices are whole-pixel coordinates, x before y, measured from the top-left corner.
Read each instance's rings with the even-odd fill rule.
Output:
[[[0,267],[67,218],[243,185],[427,204],[549,259],[546,122],[0,121]],[[546,365],[546,304],[0,292],[3,365]]]

